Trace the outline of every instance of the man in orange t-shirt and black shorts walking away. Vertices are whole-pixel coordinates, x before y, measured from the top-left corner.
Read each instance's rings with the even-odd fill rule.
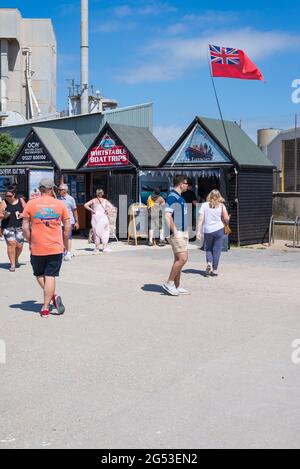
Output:
[[[53,187],[51,180],[42,179],[41,197],[30,200],[23,212],[23,231],[30,246],[33,273],[44,290],[41,317],[49,317],[51,301],[58,314],[65,312],[61,297],[55,293],[55,279],[59,277],[64,249],[68,248],[70,214],[65,204],[55,198]]]

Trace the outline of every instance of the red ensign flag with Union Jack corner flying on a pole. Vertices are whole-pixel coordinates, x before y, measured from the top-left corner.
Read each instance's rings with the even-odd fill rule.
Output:
[[[213,45],[209,50],[213,77],[264,80],[261,71],[244,51]]]

